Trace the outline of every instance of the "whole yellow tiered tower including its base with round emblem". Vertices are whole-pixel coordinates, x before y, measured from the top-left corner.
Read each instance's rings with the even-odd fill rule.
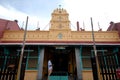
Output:
[[[71,38],[69,14],[63,8],[57,8],[52,13],[49,30],[49,40],[68,41]]]

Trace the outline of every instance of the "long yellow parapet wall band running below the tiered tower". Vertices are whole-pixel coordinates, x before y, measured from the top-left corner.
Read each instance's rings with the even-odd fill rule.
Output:
[[[59,39],[58,35],[62,34]],[[24,31],[5,31],[1,41],[22,41]],[[28,31],[26,41],[92,41],[91,31]],[[118,42],[120,41],[117,31],[96,31],[95,41]]]

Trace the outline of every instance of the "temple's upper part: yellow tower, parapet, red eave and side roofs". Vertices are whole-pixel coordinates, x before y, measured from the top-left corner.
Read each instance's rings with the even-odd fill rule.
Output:
[[[63,8],[52,13],[49,31],[27,31],[27,45],[93,45],[92,31],[71,31],[69,14]],[[107,31],[94,31],[97,45],[120,45],[120,23],[110,24]],[[0,19],[0,45],[21,45],[24,39],[17,20]]]

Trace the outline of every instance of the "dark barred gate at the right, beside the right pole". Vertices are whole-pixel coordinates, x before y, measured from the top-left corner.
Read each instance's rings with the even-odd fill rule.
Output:
[[[119,71],[120,53],[99,54],[98,62],[99,62],[99,68],[100,68],[100,76],[102,80],[120,80],[119,78],[120,73],[116,73],[116,72],[120,72]],[[98,80],[95,57],[91,57],[91,63],[92,63],[92,70],[93,70],[93,78],[94,80]]]

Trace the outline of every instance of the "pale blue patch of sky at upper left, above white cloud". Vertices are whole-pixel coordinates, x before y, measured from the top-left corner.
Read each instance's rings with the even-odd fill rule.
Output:
[[[30,15],[44,15],[58,7],[60,0],[2,0],[3,7],[13,7],[14,9]]]

